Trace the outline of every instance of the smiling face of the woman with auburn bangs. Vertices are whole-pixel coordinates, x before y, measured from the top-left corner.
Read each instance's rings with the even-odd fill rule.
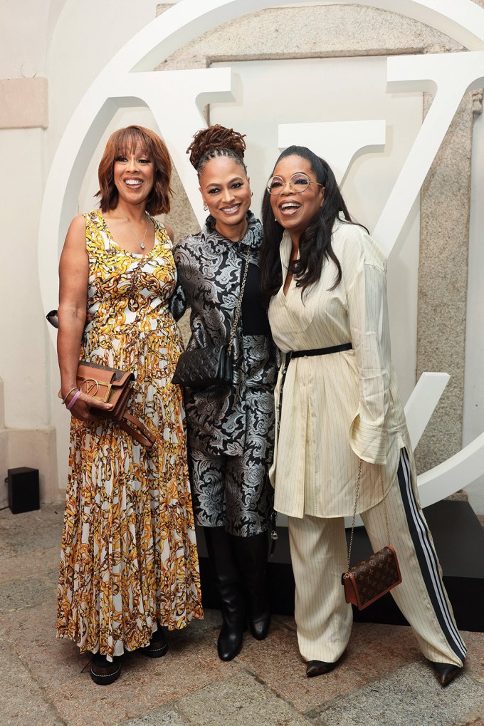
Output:
[[[113,172],[120,201],[123,200],[128,204],[146,204],[153,188],[155,168],[141,144],[117,155]]]

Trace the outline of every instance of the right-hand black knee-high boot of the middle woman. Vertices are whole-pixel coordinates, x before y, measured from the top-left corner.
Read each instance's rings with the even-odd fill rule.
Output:
[[[250,632],[263,640],[271,622],[271,605],[267,597],[268,533],[253,537],[231,537],[237,565],[242,574],[247,596],[247,621]]]

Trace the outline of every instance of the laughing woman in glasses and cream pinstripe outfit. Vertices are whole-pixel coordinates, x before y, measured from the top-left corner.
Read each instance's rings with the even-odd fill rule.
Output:
[[[344,517],[358,513],[374,551],[387,544],[380,470],[403,582],[392,590],[435,674],[464,665],[390,360],[385,254],[353,224],[324,160],[305,147],[280,155],[263,200],[261,285],[284,353],[276,386],[271,480],[289,518],[300,653],[309,677],[332,670],[352,612],[341,573]]]

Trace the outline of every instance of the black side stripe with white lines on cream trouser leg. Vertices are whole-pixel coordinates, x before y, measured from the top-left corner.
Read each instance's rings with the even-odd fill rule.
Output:
[[[401,450],[400,465],[398,466],[398,484],[400,485],[403,507],[405,507],[406,518],[409,523],[409,531],[419,560],[420,571],[422,572],[435,616],[451,649],[464,662],[467,648],[462,642],[459,631],[454,624],[454,619],[448,609],[446,595],[443,592],[438,573],[438,560],[435,555],[435,550],[430,542],[427,526],[422,519],[422,514],[419,507],[417,507],[414,492],[411,488],[409,458],[406,449]]]

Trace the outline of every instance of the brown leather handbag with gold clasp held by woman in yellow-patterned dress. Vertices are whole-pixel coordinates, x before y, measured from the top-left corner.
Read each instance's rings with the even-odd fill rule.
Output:
[[[155,434],[139,418],[126,412],[133,392],[133,380],[134,373],[118,368],[87,361],[79,361],[78,364],[76,384],[79,391],[91,397],[92,408],[96,408],[96,401],[112,404],[112,410],[103,410],[102,415],[112,418],[123,431],[149,449],[156,441]]]

